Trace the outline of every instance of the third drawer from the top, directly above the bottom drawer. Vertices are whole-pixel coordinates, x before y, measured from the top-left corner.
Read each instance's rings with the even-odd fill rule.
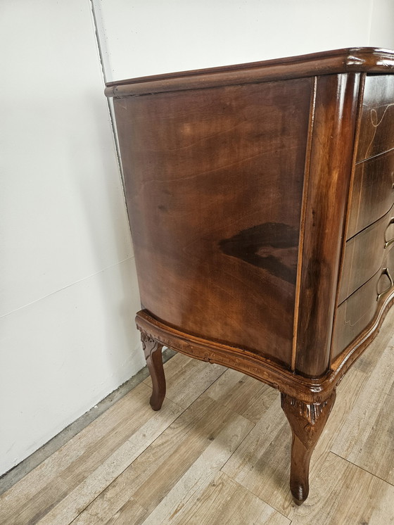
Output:
[[[393,214],[394,207],[346,243],[338,304],[378,272],[394,243]]]

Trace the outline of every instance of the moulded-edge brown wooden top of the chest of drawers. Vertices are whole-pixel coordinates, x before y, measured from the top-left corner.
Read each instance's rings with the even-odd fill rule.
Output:
[[[341,72],[394,72],[394,51],[355,47],[220,68],[166,73],[109,82],[105,93],[108,97],[119,98]]]

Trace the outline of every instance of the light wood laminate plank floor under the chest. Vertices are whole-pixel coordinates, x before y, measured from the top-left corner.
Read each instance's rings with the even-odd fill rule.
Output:
[[[176,355],[160,412],[146,379],[1,495],[0,524],[394,524],[393,327],[338,387],[301,507],[279,393]]]

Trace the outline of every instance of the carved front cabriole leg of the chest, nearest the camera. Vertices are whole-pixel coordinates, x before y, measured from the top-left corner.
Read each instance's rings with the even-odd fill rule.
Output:
[[[281,394],[281,405],[293,434],[290,488],[297,505],[301,505],[307,499],[310,457],[329,419],[335,398],[335,390],[322,403],[303,403],[284,393]]]

